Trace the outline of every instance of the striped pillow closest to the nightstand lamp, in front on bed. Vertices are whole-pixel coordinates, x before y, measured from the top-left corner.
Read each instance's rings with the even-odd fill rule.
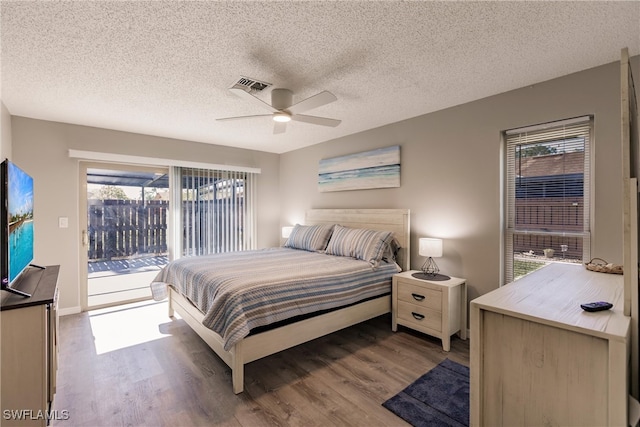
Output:
[[[361,259],[368,261],[375,267],[392,240],[393,233],[390,231],[347,228],[336,225],[327,245],[326,253]]]

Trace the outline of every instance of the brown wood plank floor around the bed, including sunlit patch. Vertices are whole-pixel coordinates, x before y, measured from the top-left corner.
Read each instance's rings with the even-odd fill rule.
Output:
[[[403,426],[382,407],[445,358],[469,365],[469,341],[399,327],[390,315],[250,363],[245,391],[166,303],[60,318],[53,426]]]

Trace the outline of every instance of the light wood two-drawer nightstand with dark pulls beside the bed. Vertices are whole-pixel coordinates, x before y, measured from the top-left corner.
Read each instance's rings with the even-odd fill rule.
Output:
[[[393,276],[391,330],[403,325],[440,338],[444,351],[451,349],[451,335],[467,339],[467,284],[465,279],[429,281],[412,276],[417,270]]]

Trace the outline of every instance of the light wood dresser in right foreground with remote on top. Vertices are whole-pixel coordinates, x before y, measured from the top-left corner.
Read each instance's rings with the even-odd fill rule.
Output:
[[[580,304],[608,301],[586,312]],[[626,426],[621,275],[550,264],[471,302],[471,425]]]

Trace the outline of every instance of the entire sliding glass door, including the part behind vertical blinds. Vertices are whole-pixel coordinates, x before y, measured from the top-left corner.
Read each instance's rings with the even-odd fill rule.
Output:
[[[169,260],[255,248],[257,173],[81,163],[83,310],[151,298]]]

